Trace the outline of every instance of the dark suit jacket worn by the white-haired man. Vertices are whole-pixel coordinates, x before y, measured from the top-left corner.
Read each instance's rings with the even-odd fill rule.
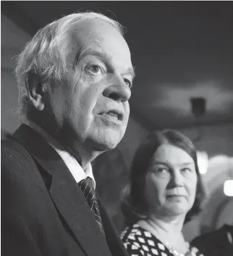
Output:
[[[27,125],[1,144],[3,256],[127,256],[99,199],[104,236],[59,154]]]

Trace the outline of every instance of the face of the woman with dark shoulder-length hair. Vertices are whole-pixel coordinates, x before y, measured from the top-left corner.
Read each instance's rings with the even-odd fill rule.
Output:
[[[153,154],[145,177],[149,213],[154,215],[186,215],[196,194],[195,163],[177,146],[163,144]]]

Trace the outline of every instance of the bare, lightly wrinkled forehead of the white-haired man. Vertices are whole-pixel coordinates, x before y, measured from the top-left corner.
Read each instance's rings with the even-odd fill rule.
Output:
[[[73,30],[75,63],[96,56],[125,73],[135,76],[130,49],[117,28],[103,20],[82,20]]]

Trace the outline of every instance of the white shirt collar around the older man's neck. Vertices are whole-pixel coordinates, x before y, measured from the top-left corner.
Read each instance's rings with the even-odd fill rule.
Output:
[[[56,152],[59,154],[59,156],[62,158],[64,163],[67,165],[67,168],[69,169],[70,173],[72,173],[72,176],[75,178],[75,181],[78,183],[82,181],[83,179],[90,177],[94,181],[94,187],[96,188],[96,181],[93,176],[93,170],[90,163],[88,163],[85,170],[82,169],[82,166],[79,162],[75,159],[75,157],[72,156],[59,142],[57,142],[54,138],[52,138],[46,131],[43,130],[40,126],[36,125],[32,121],[27,120],[25,122],[26,125],[29,125],[30,128],[33,128],[33,130],[37,131],[38,133],[43,136],[43,139],[45,139],[48,144],[56,150]]]

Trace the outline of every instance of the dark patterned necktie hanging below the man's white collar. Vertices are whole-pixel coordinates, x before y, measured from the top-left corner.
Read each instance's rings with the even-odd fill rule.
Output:
[[[101,228],[101,231],[104,233],[101,220],[101,213],[98,210],[98,199],[96,197],[93,179],[88,177],[85,178],[85,180],[80,181],[78,184],[80,186],[80,189],[82,190],[82,193],[86,201],[88,202],[88,205],[90,206],[90,210],[93,212],[96,221]]]

